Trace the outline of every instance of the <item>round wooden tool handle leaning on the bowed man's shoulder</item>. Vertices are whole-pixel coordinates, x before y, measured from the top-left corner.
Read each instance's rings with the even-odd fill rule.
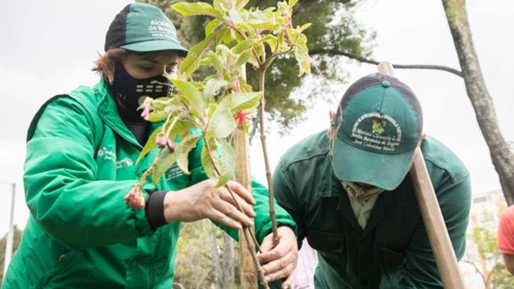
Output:
[[[378,72],[395,77],[393,66],[389,62],[379,63]],[[448,229],[439,208],[437,196],[432,187],[425,159],[419,146],[416,148],[416,153],[417,156],[414,159],[409,174],[439,275],[446,289],[464,289],[464,280],[457,264],[455,251],[453,251]]]

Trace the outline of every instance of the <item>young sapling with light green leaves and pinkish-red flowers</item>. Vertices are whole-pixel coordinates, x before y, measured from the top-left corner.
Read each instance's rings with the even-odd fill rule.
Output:
[[[174,87],[171,97],[146,98],[142,116],[161,126],[149,137],[136,162],[157,148],[152,165],[143,173],[138,184],[125,196],[125,202],[134,209],[144,207],[142,188],[151,176],[156,184],[159,178],[177,165],[190,174],[188,155],[203,142],[201,164],[215,187],[224,186],[241,205],[226,185],[234,177],[236,157],[229,137],[236,128],[248,132],[248,116],[259,106],[261,140],[269,190],[269,209],[273,243],[279,242],[277,222],[273,208],[273,186],[266,149],[264,106],[265,73],[274,59],[293,52],[299,64],[299,76],[310,73],[307,38],[303,31],[310,25],[293,28],[292,7],[297,0],[278,2],[277,7],[264,10],[245,9],[248,0],[214,0],[207,3],[180,2],[172,7],[184,16],[208,15],[213,17],[205,29],[206,37],[195,45],[181,62],[176,78],[169,78]],[[214,49],[211,50],[210,47]],[[250,63],[259,70],[259,91],[253,92],[242,76],[241,67]],[[214,73],[203,80],[192,80],[191,75],[200,66],[211,66]],[[243,234],[252,255],[261,284],[267,283],[260,270],[255,249],[259,244],[248,227]]]

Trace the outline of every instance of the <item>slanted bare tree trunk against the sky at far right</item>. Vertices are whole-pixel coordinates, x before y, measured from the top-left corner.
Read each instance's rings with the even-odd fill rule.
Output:
[[[442,1],[476,120],[489,147],[494,169],[500,176],[507,204],[514,205],[514,154],[500,132],[492,99],[482,76],[471,39],[465,0]]]

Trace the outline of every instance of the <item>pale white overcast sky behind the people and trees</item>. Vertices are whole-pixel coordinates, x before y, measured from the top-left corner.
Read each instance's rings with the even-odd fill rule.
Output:
[[[108,25],[131,1],[20,1],[3,2],[0,10],[0,180],[16,183],[14,222],[25,226],[28,209],[23,194],[25,137],[34,113],[48,98],[70,92],[79,85],[92,86],[98,77],[90,67],[103,52]],[[514,140],[514,2],[471,0],[467,4],[475,49],[493,98],[500,128]],[[358,20],[377,32],[374,58],[393,63],[440,64],[459,68],[456,52],[439,1],[368,0]],[[305,19],[305,22],[309,22]],[[350,83],[374,73],[373,65],[344,64]],[[396,70],[412,87],[424,111],[424,128],[445,143],[471,173],[473,194],[500,188],[489,151],[479,130],[464,81],[443,71]],[[345,86],[347,87],[347,85]],[[334,107],[333,107],[334,106]],[[274,167],[293,143],[328,127],[328,110],[320,101],[307,120],[280,139],[267,138]],[[251,148],[252,174],[265,182],[260,141]],[[8,229],[10,188],[0,184],[0,234]]]

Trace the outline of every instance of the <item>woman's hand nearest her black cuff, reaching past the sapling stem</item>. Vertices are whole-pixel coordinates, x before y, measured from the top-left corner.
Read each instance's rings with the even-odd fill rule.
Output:
[[[244,212],[225,187],[214,188],[216,183],[207,179],[191,187],[169,191],[164,197],[164,219],[166,222],[194,222],[209,218],[233,229],[240,229],[241,223],[253,225],[255,200],[241,184],[230,180],[227,186],[234,193]],[[231,218],[229,218],[229,216]]]

